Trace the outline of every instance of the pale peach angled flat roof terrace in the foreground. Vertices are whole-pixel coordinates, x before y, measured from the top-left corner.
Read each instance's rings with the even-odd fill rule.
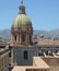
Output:
[[[12,71],[45,71],[45,70],[49,71],[49,66],[42,58],[39,58],[38,60],[37,60],[37,58],[35,58],[33,66],[30,66],[30,67],[15,66]]]

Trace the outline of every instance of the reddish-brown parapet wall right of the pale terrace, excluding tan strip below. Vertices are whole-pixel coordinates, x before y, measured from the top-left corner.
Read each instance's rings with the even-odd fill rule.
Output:
[[[43,59],[50,67],[59,67],[59,57],[43,57]]]

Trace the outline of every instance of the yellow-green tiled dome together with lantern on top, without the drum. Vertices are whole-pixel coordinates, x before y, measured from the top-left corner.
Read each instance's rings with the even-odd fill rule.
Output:
[[[32,22],[25,13],[25,7],[20,5],[20,12],[12,23],[12,27],[32,27]]]

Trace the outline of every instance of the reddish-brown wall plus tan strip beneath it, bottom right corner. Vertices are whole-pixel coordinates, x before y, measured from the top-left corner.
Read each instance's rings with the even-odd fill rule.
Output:
[[[59,57],[43,57],[43,59],[50,67],[50,71],[59,71]]]

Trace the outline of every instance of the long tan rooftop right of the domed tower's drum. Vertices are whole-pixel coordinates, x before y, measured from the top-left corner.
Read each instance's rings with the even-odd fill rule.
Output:
[[[57,39],[45,39],[45,38],[39,38],[38,40],[39,46],[59,46],[59,40]]]

